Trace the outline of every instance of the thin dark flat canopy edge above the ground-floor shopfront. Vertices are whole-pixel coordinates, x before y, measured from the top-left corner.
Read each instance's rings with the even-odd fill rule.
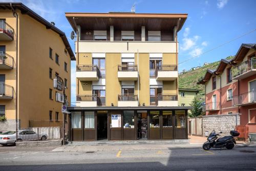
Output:
[[[68,111],[120,111],[120,110],[133,110],[133,111],[150,111],[150,110],[190,110],[192,106],[133,106],[133,107],[120,107],[120,106],[98,106],[98,107],[79,107],[69,106]]]

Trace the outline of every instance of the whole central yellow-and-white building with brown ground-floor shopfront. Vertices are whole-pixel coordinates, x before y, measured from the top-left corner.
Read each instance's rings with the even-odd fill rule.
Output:
[[[186,139],[178,41],[187,14],[66,13],[76,32],[71,140]]]

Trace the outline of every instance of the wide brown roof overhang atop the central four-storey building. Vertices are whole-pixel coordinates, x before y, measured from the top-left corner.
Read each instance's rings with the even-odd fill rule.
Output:
[[[114,26],[115,30],[141,30],[145,26],[147,30],[173,30],[177,26],[179,18],[179,31],[187,14],[154,14],[154,13],[66,13],[74,31],[77,26],[84,30],[108,30]]]

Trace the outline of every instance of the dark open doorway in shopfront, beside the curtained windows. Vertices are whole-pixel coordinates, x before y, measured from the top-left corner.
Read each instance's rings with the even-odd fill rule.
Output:
[[[97,113],[97,140],[108,140],[108,113]]]

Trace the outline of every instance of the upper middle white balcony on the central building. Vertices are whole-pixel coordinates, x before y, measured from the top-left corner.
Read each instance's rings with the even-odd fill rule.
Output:
[[[138,68],[136,65],[118,65],[117,77],[119,81],[136,81]]]

